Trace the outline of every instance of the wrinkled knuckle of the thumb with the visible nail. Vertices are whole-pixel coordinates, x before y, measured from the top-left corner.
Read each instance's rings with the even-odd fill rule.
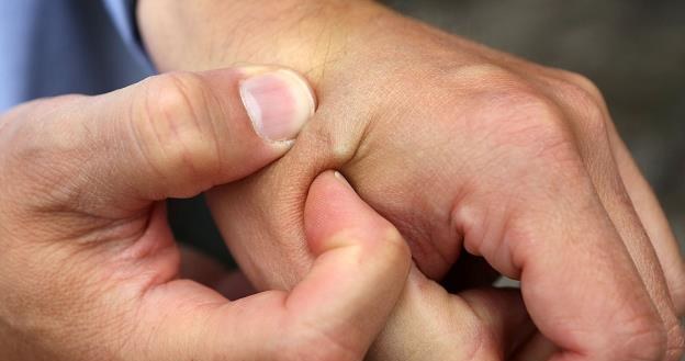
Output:
[[[206,87],[190,72],[151,77],[142,87],[142,114],[134,111],[131,121],[139,148],[159,172],[204,174],[218,167],[213,100]]]

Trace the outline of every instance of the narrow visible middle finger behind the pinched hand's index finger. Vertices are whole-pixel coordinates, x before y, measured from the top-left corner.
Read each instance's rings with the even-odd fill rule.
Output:
[[[681,327],[664,272],[652,242],[636,212],[609,147],[609,120],[600,100],[587,91],[553,78],[538,80],[549,98],[562,108],[575,133],[581,157],[602,205],[632,258],[669,335],[667,359],[676,360],[683,348]]]

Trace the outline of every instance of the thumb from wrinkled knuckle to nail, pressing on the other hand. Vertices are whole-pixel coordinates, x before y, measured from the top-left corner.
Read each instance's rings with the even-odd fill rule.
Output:
[[[266,67],[167,74],[104,102],[119,113],[102,142],[123,142],[127,157],[114,168],[147,200],[195,195],[258,170],[315,110],[302,77]]]

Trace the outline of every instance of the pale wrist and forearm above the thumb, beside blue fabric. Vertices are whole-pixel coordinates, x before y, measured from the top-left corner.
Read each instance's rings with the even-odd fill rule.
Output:
[[[139,0],[138,23],[160,70],[281,64],[317,82],[390,11],[367,0]],[[355,43],[353,46],[349,44]]]

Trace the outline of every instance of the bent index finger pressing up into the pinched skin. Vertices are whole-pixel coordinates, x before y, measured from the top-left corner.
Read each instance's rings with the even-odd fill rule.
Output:
[[[312,184],[305,214],[315,260],[289,293],[270,291],[228,303],[187,281],[151,290],[142,315],[143,324],[155,328],[149,345],[159,348],[156,354],[361,360],[404,289],[408,248],[388,221],[330,171]],[[167,318],[160,304],[170,304],[181,318]]]

